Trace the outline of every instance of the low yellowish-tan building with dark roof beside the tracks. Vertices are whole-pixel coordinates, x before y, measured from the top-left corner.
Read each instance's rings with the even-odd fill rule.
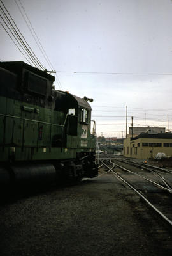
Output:
[[[124,139],[124,156],[138,159],[155,157],[159,152],[172,156],[171,133],[141,133],[138,136]]]

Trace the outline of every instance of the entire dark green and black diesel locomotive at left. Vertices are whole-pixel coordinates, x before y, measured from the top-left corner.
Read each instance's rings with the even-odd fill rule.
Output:
[[[88,99],[55,90],[54,81],[23,61],[0,62],[1,185],[97,175]]]

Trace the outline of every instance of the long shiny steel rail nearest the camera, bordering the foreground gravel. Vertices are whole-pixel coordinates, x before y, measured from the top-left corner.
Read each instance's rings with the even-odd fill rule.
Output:
[[[107,159],[107,161],[109,161],[110,163],[112,163],[110,160]],[[106,164],[104,164],[106,165]],[[109,168],[109,167],[108,167]],[[152,207],[152,209],[154,209],[155,212],[157,212],[164,220],[166,220],[169,225],[172,226],[172,221],[169,220],[169,218],[167,218],[161,211],[159,211],[159,209],[157,209],[144,195],[142,195],[140,193],[140,191],[138,191],[136,188],[134,188],[131,184],[129,184],[129,182],[127,182],[124,178],[122,178],[120,175],[118,175],[116,172],[114,172],[111,168],[110,168],[111,172],[113,173],[113,175],[115,177],[118,177],[120,180],[122,180],[125,184],[127,184],[127,186],[129,186],[131,189],[133,189],[138,195],[141,196],[141,198],[143,198],[143,200],[145,200],[145,202],[147,202],[148,205],[150,205],[150,207]]]

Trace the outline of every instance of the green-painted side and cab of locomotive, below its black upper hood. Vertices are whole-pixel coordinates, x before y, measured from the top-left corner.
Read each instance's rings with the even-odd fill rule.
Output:
[[[95,151],[89,104],[86,102],[84,108],[83,99],[59,93],[67,101],[63,100],[64,107],[56,109],[54,102],[43,107],[0,96],[1,162],[76,159],[80,152]],[[69,108],[75,109],[75,113],[69,114]]]

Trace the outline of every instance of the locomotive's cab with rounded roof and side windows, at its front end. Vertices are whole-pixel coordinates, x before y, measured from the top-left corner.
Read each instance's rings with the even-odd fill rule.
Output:
[[[91,107],[85,99],[56,91],[55,110],[65,113],[64,145],[67,148],[90,148]],[[88,141],[89,140],[89,141]]]

